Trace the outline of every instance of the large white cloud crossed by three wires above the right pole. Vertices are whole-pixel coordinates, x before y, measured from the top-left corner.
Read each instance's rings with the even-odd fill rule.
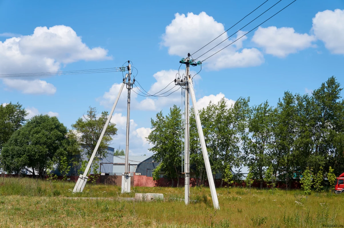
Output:
[[[161,45],[168,47],[170,55],[185,57],[187,53],[192,54],[224,32],[224,25],[215,21],[212,16],[207,15],[205,12],[201,12],[198,15],[187,13],[186,16],[185,14],[176,13],[171,24],[166,26],[165,33],[162,35]],[[227,39],[198,60],[204,60],[244,34],[244,31],[239,31],[234,37]],[[194,54],[192,57],[198,58],[201,54],[205,53],[206,50],[219,44],[227,37],[228,34],[225,32],[214,42]],[[245,48],[241,50],[245,39],[247,39],[246,36],[242,37],[232,45],[223,49],[221,52],[207,59],[205,62],[207,68],[219,70],[222,68],[252,67],[261,65],[264,62],[264,56],[258,49]],[[217,63],[219,61],[222,62]]]

